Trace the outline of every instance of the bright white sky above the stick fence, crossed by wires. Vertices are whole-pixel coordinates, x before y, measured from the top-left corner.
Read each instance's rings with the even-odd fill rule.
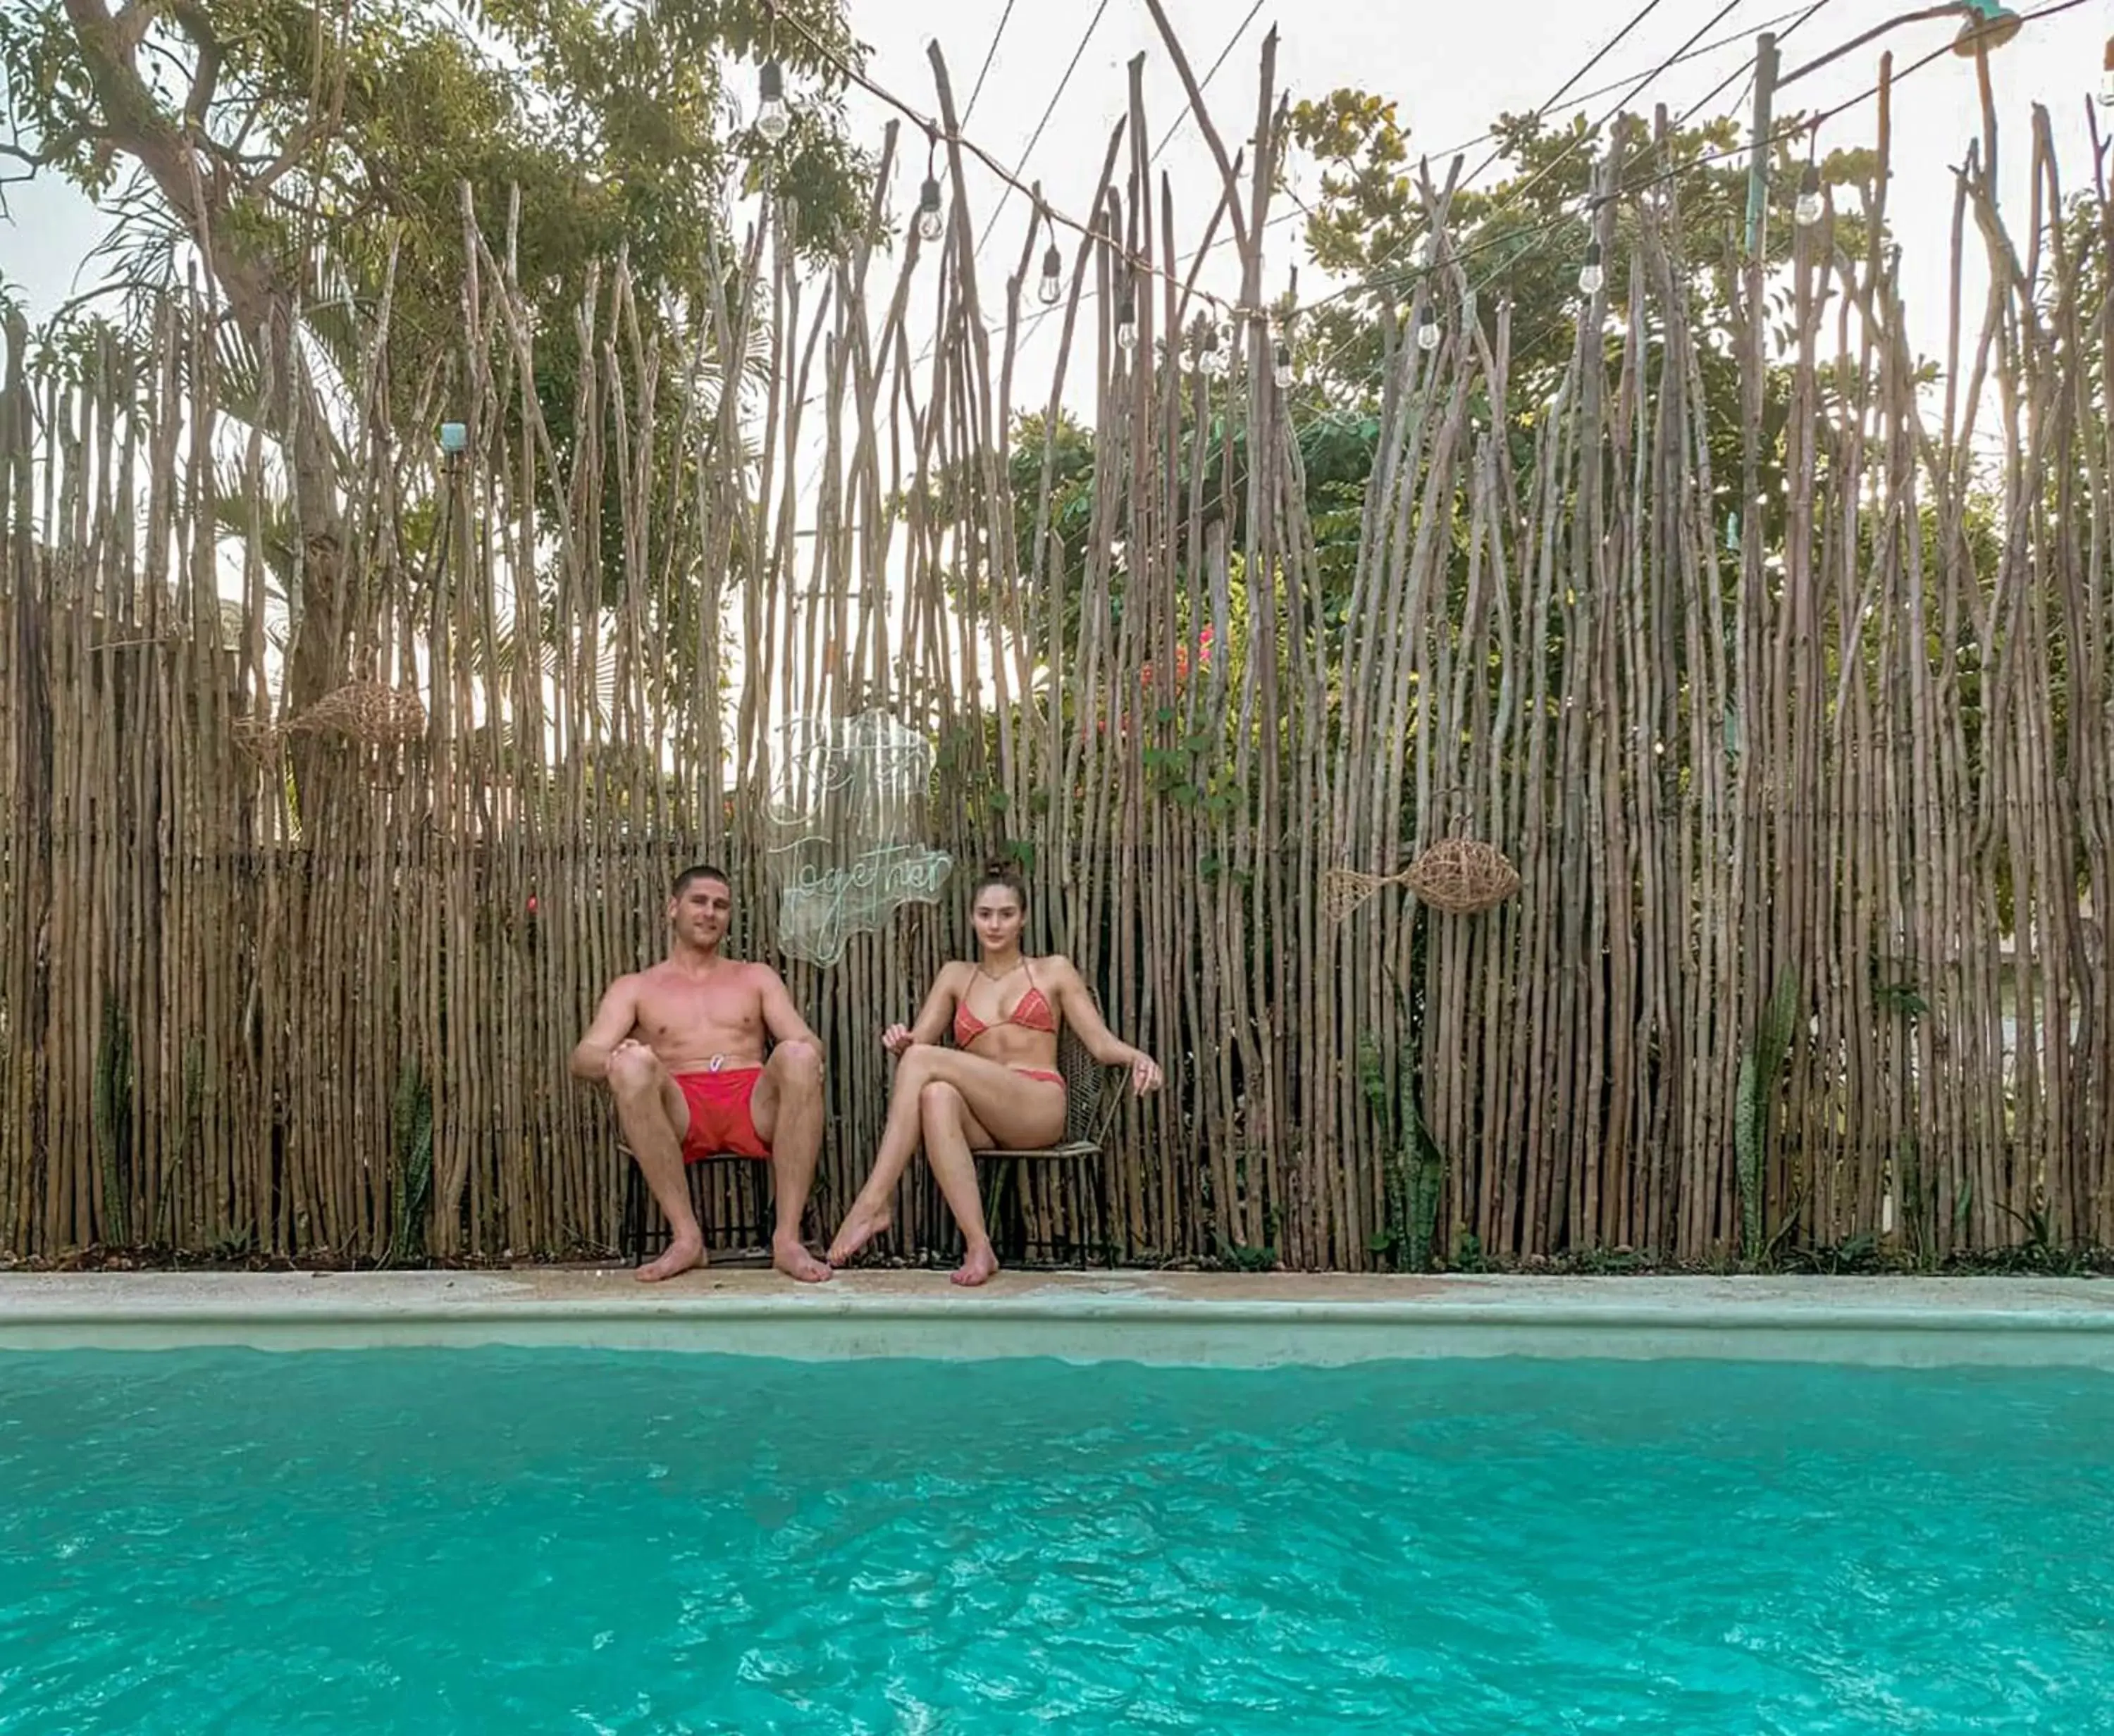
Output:
[[[1078,49],[1087,21],[1099,0],[1074,0],[1055,6],[1049,0],[1017,0],[985,89],[968,118],[966,131],[994,156],[1013,165],[1021,159],[1044,106]],[[1249,0],[1165,0],[1199,76],[1220,57],[1228,38],[1249,15]],[[1691,34],[1702,30],[1723,0],[1659,0],[1655,11],[1594,68],[1581,89],[1613,80],[1640,78],[1670,57]],[[1630,101],[1649,112],[1664,99],[1679,114],[1698,101],[1750,53],[1750,32],[1784,13],[1791,0],[1740,0],[1736,8],[1702,40],[1733,36],[1717,53],[1672,68]],[[1881,23],[1913,11],[1898,0],[1829,0],[1786,44],[1784,70]],[[994,40],[1006,0],[852,0],[858,34],[873,47],[869,74],[922,112],[937,108],[926,63],[926,42],[941,40],[953,74],[960,101],[977,82],[979,68]],[[1600,49],[1630,19],[1632,0],[1573,0],[1556,6],[1547,0],[1476,0],[1469,6],[1387,4],[1387,0],[1266,0],[1245,25],[1224,68],[1209,87],[1209,101],[1228,150],[1239,148],[1251,131],[1256,110],[1256,57],[1262,36],[1279,27],[1277,80],[1294,97],[1317,97],[1338,85],[1359,85],[1391,97],[1412,133],[1412,148],[1431,152],[1433,171],[1444,176],[1450,148],[1476,137],[1501,110],[1528,110],[1541,104],[1579,63]],[[2021,0],[2021,11],[2032,4]],[[1862,49],[1831,68],[1801,80],[1780,99],[1786,108],[1822,108],[1850,97],[1875,78],[1877,53],[1892,47],[1896,66],[1909,66],[1953,32],[1951,21],[1909,23],[1881,44]],[[1998,114],[2002,121],[2002,184],[2006,216],[2015,230],[2027,214],[2025,169],[2029,161],[2032,104],[2046,104],[2063,146],[2070,188],[2087,184],[2089,133],[2087,104],[2099,87],[2101,47],[2114,32],[2114,0],[2091,0],[2053,19],[2029,21],[2023,34],[1991,55]],[[1084,216],[1099,169],[1108,129],[1127,106],[1125,63],[1133,53],[1148,55],[1146,114],[1152,140],[1182,114],[1182,89],[1161,49],[1144,0],[1108,0],[1097,27],[1087,42],[1078,70],[1051,116],[1040,144],[1027,156],[1023,180],[1040,178],[1044,197],[1059,209]],[[746,74],[744,104],[753,101]],[[1742,101],[1744,76],[1714,99],[1714,110]],[[1619,95],[1619,93],[1617,93]],[[1586,108],[1598,116],[1617,95],[1596,97]],[[799,89],[791,91],[799,99]],[[852,118],[877,140],[888,108],[852,93]],[[1560,112],[1569,114],[1569,101]],[[1742,101],[1744,114],[1744,101]],[[1862,104],[1829,123],[1822,148],[1869,144],[1875,104]],[[2114,112],[2110,112],[2114,114]],[[1962,161],[1966,140],[1979,129],[1974,72],[1970,61],[1951,55],[1905,78],[1894,99],[1894,165],[1892,216],[1911,281],[1924,273],[1928,288],[1911,292],[1911,317],[1926,351],[1943,343],[1945,288],[1943,258],[1951,222],[1951,171]],[[894,209],[909,214],[917,182],[924,176],[924,148],[913,131],[905,133],[903,169],[894,188]],[[1469,154],[1469,167],[1480,150]],[[1194,125],[1184,125],[1161,156],[1161,167],[1173,178],[1177,243],[1194,243],[1216,195],[1216,169]],[[1497,173],[1497,171],[1492,171]],[[1000,192],[998,184],[970,165],[970,197],[979,228]],[[1302,188],[1311,192],[1311,180]],[[11,188],[8,203],[15,228],[0,228],[0,273],[30,292],[34,315],[49,313],[72,290],[85,288],[78,277],[82,258],[99,237],[99,218],[76,195],[57,184]],[[1287,209],[1285,201],[1275,207]],[[979,262],[987,311],[1002,304],[1006,271],[1019,256],[1025,201],[1015,199],[987,252]],[[1277,294],[1285,271],[1298,258],[1298,222],[1271,230],[1266,292]],[[1065,237],[1070,269],[1072,239]],[[1972,243],[1970,243],[1972,252]],[[1040,245],[1038,245],[1040,256]],[[890,273],[892,260],[877,269]],[[1205,288],[1222,294],[1235,288],[1237,262],[1232,247],[1220,247],[1207,264]],[[1313,271],[1302,271],[1302,298],[1325,288]],[[812,304],[812,302],[810,302]],[[1015,402],[1040,395],[1036,381],[1046,378],[1059,319],[1049,319],[1038,338],[1023,351],[1025,391]],[[913,328],[922,347],[930,336],[930,315]]]

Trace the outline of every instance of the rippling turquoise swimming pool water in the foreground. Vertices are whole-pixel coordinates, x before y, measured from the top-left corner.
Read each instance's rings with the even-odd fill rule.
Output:
[[[0,1355],[0,1732],[2093,1732],[2114,1379]]]

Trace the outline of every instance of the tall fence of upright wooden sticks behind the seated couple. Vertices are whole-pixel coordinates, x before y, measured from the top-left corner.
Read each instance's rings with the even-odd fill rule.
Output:
[[[1273,51],[1222,199],[1249,307]],[[607,1250],[622,1176],[567,1049],[687,861],[731,865],[776,956],[772,730],[875,706],[937,742],[934,844],[1030,854],[1036,943],[1167,1064],[1106,1218],[1038,1195],[1055,1239],[1300,1269],[2114,1241],[2108,230],[2021,247],[1970,156],[1996,271],[1943,410],[1877,241],[1801,239],[1767,364],[1765,283],[1733,279],[1731,408],[1757,427],[1780,368],[1788,433],[1731,546],[1679,182],[1630,201],[1621,260],[1602,207],[1615,298],[1550,404],[1520,402],[1512,309],[1465,324],[1442,258],[1408,317],[1431,298],[1446,334],[1389,353],[1334,626],[1262,319],[1224,378],[1165,359],[1194,302],[1148,137],[1133,78],[1036,402],[1034,237],[985,283],[960,165],[937,247],[803,283],[757,245],[683,340],[611,262],[571,444],[499,214],[465,209],[429,400],[467,448],[376,412],[385,370],[433,362],[383,317],[328,565],[273,539],[275,442],[222,406],[209,296],[144,364],[108,343],[72,376],[11,328],[0,1254]],[[2044,123],[2034,152],[2053,209]],[[1006,446],[1080,370],[1076,562],[1055,446]],[[275,590],[326,571],[342,679],[296,706]],[[962,903],[789,971],[833,1057],[831,1207],[879,1131],[877,1032]],[[901,1237],[945,1237],[928,1193]]]

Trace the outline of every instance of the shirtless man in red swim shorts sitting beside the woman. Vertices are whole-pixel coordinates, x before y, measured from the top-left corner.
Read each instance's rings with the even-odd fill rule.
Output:
[[[822,1045],[776,971],[719,956],[731,913],[727,875],[683,869],[668,894],[668,958],[617,977],[573,1051],[573,1076],[602,1081],[615,1097],[638,1171],[668,1214],[668,1252],[638,1269],[643,1283],[704,1264],[683,1165],[712,1152],[769,1161],[772,1264],[801,1283],[829,1277],[799,1239],[822,1150]]]

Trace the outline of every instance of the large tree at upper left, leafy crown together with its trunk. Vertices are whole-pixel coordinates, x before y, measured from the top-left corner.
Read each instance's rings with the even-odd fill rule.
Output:
[[[774,176],[805,247],[865,222],[867,165],[848,144],[841,74],[856,63],[839,0],[666,0],[617,13],[579,0],[493,0],[461,13],[404,0],[0,0],[0,135],[112,211],[106,254],[146,313],[197,258],[226,309],[243,406],[296,476],[309,594],[296,702],[342,672],[353,622],[330,605],[345,457],[330,372],[387,290],[391,410],[461,353],[463,188],[543,332],[537,381],[569,436],[573,309],[624,250],[647,326],[702,324],[725,281],[725,199]],[[776,53],[801,99],[763,148],[734,125],[729,61]],[[268,389],[264,383],[271,383]],[[400,421],[402,427],[402,421]]]

